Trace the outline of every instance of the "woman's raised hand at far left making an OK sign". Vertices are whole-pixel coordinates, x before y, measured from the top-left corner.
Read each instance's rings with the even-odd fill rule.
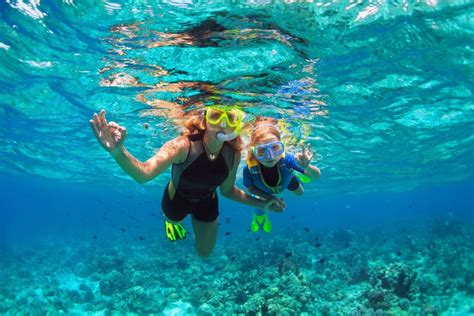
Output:
[[[94,117],[89,122],[95,137],[105,150],[114,154],[122,148],[127,137],[127,130],[115,122],[107,123],[105,110],[101,110],[99,115],[94,113]]]

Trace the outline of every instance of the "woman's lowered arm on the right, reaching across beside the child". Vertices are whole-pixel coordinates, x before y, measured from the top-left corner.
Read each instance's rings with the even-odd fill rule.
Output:
[[[278,201],[273,197],[268,201],[262,201],[248,195],[247,193],[245,193],[244,191],[242,191],[241,189],[235,186],[235,178],[237,175],[237,169],[239,167],[240,158],[241,158],[240,153],[236,152],[232,170],[230,170],[229,175],[227,176],[227,179],[220,186],[221,194],[225,196],[226,198],[229,198],[236,202],[243,203],[243,204],[260,208],[260,209],[268,209],[272,204],[276,205]],[[278,203],[278,204],[279,205],[277,206],[272,206],[271,209],[277,212],[283,211],[283,208],[284,208],[283,203]]]

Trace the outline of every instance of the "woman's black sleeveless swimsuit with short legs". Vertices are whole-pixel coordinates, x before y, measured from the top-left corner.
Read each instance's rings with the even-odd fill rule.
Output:
[[[171,181],[176,193],[171,198],[167,185],[161,200],[163,213],[171,221],[180,222],[186,215],[192,214],[199,221],[212,222],[219,215],[216,188],[227,179],[234,164],[235,151],[224,142],[219,155],[210,160],[202,137],[202,134],[188,136],[186,160],[173,164]]]

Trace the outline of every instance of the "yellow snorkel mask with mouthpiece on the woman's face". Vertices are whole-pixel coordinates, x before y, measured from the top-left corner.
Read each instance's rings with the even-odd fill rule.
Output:
[[[244,112],[235,106],[209,106],[206,108],[206,122],[222,128],[232,127],[232,133],[217,132],[220,141],[231,141],[239,136],[242,130]]]

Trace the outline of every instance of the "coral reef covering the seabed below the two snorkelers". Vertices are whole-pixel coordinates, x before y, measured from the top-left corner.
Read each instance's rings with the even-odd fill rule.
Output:
[[[206,260],[192,242],[160,238],[18,248],[2,260],[0,313],[468,314],[473,227],[457,234],[432,225],[383,237],[354,228],[242,233]]]

